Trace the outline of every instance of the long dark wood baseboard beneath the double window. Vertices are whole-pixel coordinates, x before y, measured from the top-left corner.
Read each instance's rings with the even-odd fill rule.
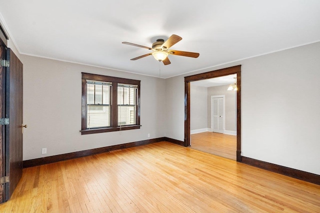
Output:
[[[100,153],[110,152],[112,150],[125,149],[125,148],[130,148],[130,147],[146,145],[146,144],[152,144],[152,143],[156,143],[156,142],[160,142],[160,141],[165,141],[165,138],[164,137],[154,138],[154,139],[149,139],[149,140],[144,140],[144,141],[137,141],[137,142],[131,142],[131,143],[126,143],[126,144],[118,144],[118,145],[113,145],[113,146],[108,146],[108,147],[101,147],[101,148],[83,150],[83,151],[66,153],[66,154],[61,154],[61,155],[54,155],[54,156],[49,156],[49,157],[44,157],[44,158],[31,159],[31,160],[23,161],[23,168],[34,167],[34,166],[39,166],[39,165],[43,165],[43,164],[50,164],[50,163],[55,163],[55,162],[59,162],[59,161],[65,161],[65,160],[85,157],[85,156],[89,156],[89,155],[96,155],[96,154],[100,154]]]

